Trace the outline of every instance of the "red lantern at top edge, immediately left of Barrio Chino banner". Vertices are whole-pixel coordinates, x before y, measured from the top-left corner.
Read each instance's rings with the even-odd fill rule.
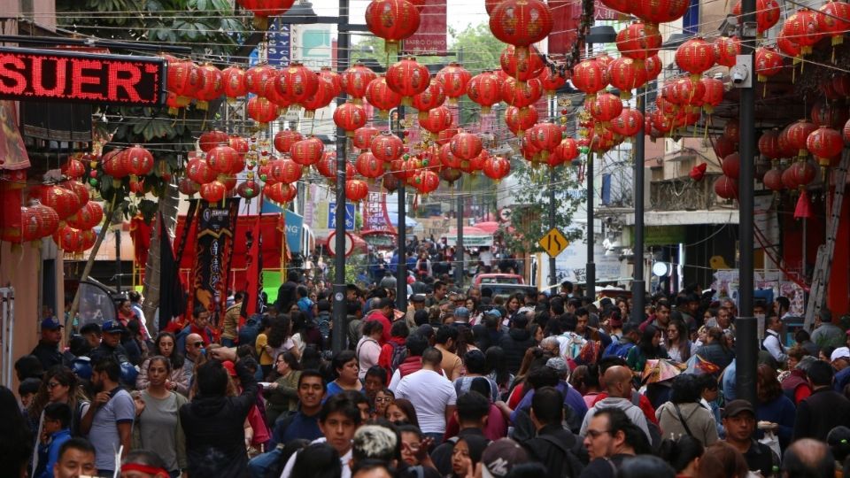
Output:
[[[419,29],[419,9],[407,0],[372,0],[366,7],[366,26],[383,38],[384,50],[395,56],[398,42]]]

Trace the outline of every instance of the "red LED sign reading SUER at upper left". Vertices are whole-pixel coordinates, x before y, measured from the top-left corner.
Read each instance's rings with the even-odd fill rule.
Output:
[[[164,58],[0,48],[0,97],[153,106],[166,99]]]

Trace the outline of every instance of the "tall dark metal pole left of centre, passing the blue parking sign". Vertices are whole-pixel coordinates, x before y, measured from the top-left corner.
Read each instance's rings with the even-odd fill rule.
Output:
[[[339,25],[348,25],[348,0],[339,0]],[[343,73],[349,64],[351,35],[347,31],[339,31],[336,43],[336,70]],[[336,97],[336,105],[345,103],[345,92]],[[336,240],[334,247],[334,333],[331,334],[331,348],[334,353],[344,350],[345,333],[348,328],[345,323],[345,162],[347,138],[341,127],[336,127]]]

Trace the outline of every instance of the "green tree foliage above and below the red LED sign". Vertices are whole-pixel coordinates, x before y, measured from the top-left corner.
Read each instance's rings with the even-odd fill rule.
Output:
[[[246,29],[246,25],[233,18],[233,5],[228,0],[57,0],[56,8],[63,27],[73,26],[68,28],[82,35],[121,42],[161,43],[164,48],[189,46],[196,59],[225,60],[239,46]],[[186,153],[194,149],[195,138],[201,133],[199,127],[213,120],[216,107],[213,102],[205,112],[193,105],[174,117],[165,106],[101,105],[98,116],[106,120],[97,122],[94,128],[97,136],[112,137],[106,150],[141,144],[151,151],[156,160],[154,171],[139,180],[143,181],[145,193],[160,197],[167,181],[173,181],[174,173],[181,171]],[[193,130],[193,126],[198,129]],[[126,217],[136,212],[141,212],[145,220],[153,217],[156,202],[128,201],[129,178],[112,181],[99,168],[96,172],[97,182],[93,185],[100,189],[104,200],[112,201],[115,197]]]

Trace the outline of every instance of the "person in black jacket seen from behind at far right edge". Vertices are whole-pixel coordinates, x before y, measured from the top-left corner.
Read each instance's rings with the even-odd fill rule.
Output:
[[[845,368],[848,369],[850,367]],[[832,428],[850,423],[850,400],[832,389],[832,367],[823,360],[816,360],[808,366],[806,375],[812,394],[797,405],[793,440],[815,438],[825,442]]]

